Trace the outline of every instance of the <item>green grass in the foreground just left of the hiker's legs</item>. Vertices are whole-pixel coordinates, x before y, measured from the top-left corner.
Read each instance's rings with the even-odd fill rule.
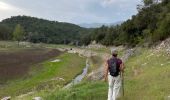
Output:
[[[107,84],[104,82],[85,82],[69,90],[60,90],[48,96],[45,100],[106,100]]]

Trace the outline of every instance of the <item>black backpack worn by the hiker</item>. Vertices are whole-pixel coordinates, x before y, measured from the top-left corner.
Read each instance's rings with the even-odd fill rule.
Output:
[[[118,76],[120,69],[116,58],[111,58],[108,60],[109,72],[111,76]]]

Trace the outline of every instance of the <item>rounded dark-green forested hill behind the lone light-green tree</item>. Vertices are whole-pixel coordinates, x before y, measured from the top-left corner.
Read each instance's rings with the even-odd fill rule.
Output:
[[[75,43],[87,33],[78,25],[49,21],[29,16],[14,16],[0,22],[0,39],[11,40],[12,33],[19,24],[25,33],[23,40],[44,43]]]

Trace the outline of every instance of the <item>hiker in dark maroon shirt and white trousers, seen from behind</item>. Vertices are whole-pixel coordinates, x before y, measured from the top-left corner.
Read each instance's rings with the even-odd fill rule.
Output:
[[[108,81],[108,100],[116,100],[121,87],[121,72],[124,64],[121,59],[117,58],[118,51],[112,50],[112,57],[107,60],[105,68],[105,81]]]

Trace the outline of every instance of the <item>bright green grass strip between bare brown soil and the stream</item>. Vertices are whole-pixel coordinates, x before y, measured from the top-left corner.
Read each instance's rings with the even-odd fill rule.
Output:
[[[77,74],[81,73],[85,66],[85,59],[76,54],[65,53],[56,59],[60,59],[61,62],[43,62],[40,64],[42,67],[34,69],[26,79],[8,82],[7,85],[0,87],[0,97],[7,95],[16,96],[45,88],[55,88],[56,85],[62,87],[70,82]],[[52,81],[51,79],[55,77],[61,77],[65,81]]]

